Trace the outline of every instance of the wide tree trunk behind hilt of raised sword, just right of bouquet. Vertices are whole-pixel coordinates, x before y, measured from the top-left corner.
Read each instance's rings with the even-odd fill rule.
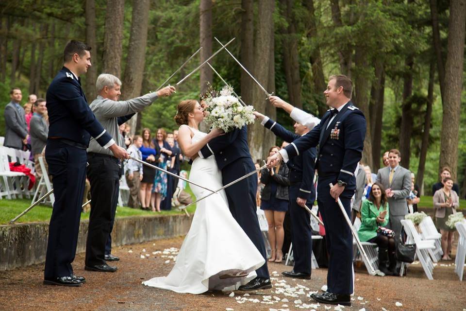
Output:
[[[256,27],[256,40],[254,45],[254,59],[261,61],[254,62],[254,76],[264,87],[270,87],[270,79],[274,80],[273,76],[273,64],[274,64],[274,23],[273,23],[273,12],[275,10],[275,1],[274,0],[259,0],[258,1],[258,20]],[[254,106],[257,111],[265,111],[266,113],[270,112],[266,110],[266,94],[259,88],[259,86],[253,84],[251,85]],[[267,92],[272,92],[268,89]],[[274,110],[274,109],[272,109]],[[270,115],[274,117],[274,115]],[[264,150],[265,144],[270,144],[272,141],[271,134],[266,133],[264,126],[260,122],[255,122],[250,125],[248,132],[248,140],[250,145],[250,152],[253,159],[264,158],[264,155],[268,151]],[[273,134],[272,134],[273,135]],[[274,141],[274,140],[273,140]],[[270,147],[270,146],[269,146]]]

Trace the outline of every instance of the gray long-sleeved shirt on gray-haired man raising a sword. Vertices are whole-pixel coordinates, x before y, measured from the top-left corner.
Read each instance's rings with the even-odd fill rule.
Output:
[[[118,122],[116,118],[123,117],[134,112],[139,112],[152,104],[157,99],[157,93],[152,92],[141,97],[136,97],[127,101],[115,102],[102,96],[97,96],[89,107],[96,116],[96,119],[102,124],[103,128],[115,140],[116,144],[125,148],[123,137],[118,131]],[[113,155],[109,149],[104,149],[96,141],[91,138],[87,152],[93,152],[104,155]]]

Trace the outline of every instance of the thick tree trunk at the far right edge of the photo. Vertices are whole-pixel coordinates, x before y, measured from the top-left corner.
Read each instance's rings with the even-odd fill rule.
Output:
[[[439,171],[443,166],[449,166],[453,180],[456,180],[458,170],[458,133],[463,86],[465,28],[466,0],[450,0]]]

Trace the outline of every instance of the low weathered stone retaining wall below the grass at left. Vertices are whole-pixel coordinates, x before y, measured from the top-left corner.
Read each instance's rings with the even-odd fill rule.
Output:
[[[113,246],[185,235],[192,216],[134,216],[116,218],[112,233]],[[76,252],[86,248],[89,221],[81,221]],[[0,225],[0,271],[24,267],[45,261],[48,223]]]

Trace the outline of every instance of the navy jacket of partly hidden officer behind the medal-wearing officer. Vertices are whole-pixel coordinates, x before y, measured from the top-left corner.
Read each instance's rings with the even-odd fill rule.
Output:
[[[271,130],[273,134],[286,142],[292,142],[301,137],[300,135],[288,131],[282,125],[268,117],[264,118],[264,121],[263,125],[267,129]],[[307,203],[311,205],[316,200],[316,187],[314,187],[314,163],[316,162],[316,155],[317,149],[310,148],[300,155],[291,158],[286,163],[290,169],[290,184],[300,183],[298,197],[306,199]]]

